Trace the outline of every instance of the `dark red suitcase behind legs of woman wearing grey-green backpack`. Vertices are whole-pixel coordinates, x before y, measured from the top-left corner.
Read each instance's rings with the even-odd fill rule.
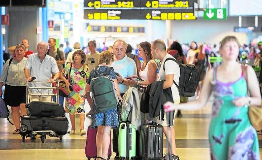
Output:
[[[98,155],[97,141],[96,141],[97,132],[98,132],[98,128],[91,128],[89,126],[88,129],[87,129],[85,154],[86,154],[86,157],[88,158],[88,160],[90,160],[91,158],[95,159]],[[111,154],[111,132],[110,132],[110,144],[109,144],[109,148],[108,148],[107,160],[110,159],[111,155],[112,154]]]

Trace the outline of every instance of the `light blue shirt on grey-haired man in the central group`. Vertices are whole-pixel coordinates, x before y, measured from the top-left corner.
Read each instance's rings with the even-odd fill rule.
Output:
[[[131,76],[131,75],[137,75],[136,71],[136,64],[134,63],[134,60],[129,58],[127,55],[119,61],[115,61],[111,64],[111,66],[114,68],[115,72],[119,73],[122,78]],[[118,84],[120,94],[124,94],[128,91],[129,86],[126,86],[124,84]]]

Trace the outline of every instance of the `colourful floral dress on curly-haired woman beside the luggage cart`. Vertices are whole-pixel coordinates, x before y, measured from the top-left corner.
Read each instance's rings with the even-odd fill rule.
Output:
[[[71,64],[66,64],[65,74],[69,73]],[[71,68],[70,85],[73,91],[66,97],[66,106],[70,114],[85,114],[85,100],[86,100],[86,76],[88,66],[83,65],[81,68]]]

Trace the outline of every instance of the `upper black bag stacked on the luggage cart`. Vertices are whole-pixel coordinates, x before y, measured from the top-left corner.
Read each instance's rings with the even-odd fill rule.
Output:
[[[26,104],[30,116],[65,117],[63,105],[54,102],[33,101]]]

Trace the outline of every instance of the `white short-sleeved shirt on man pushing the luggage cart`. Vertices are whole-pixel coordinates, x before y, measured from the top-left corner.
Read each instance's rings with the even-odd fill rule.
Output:
[[[56,60],[53,57],[45,55],[45,58],[41,63],[37,53],[28,57],[25,67],[30,70],[30,76],[36,78],[35,81],[48,81],[52,78],[52,74],[59,72]],[[51,87],[51,84],[29,83],[29,87]],[[36,90],[33,91],[35,92]],[[37,90],[37,93],[43,92],[46,92],[46,90]]]

